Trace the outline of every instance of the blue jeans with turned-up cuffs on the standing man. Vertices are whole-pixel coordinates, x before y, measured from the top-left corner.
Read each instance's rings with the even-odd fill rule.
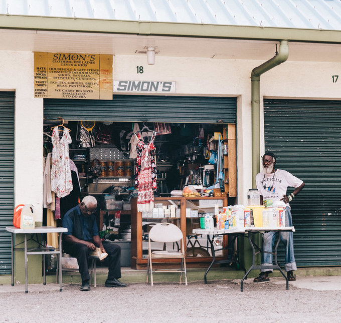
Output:
[[[285,226],[292,226],[292,217],[290,208],[287,206],[285,209]],[[264,232],[263,233],[263,250],[272,252],[272,248],[275,242],[276,232]],[[281,241],[285,247],[285,264],[284,270],[297,270],[296,261],[294,257],[294,241],[293,232],[281,232]],[[262,253],[262,265],[272,265],[272,254]],[[261,269],[261,271],[273,271],[273,269]]]

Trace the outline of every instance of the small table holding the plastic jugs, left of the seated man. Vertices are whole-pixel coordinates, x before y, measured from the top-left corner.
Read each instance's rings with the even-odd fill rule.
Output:
[[[59,291],[62,291],[62,234],[59,234],[59,248],[51,250],[46,246],[46,234],[47,233],[62,233],[67,232],[67,228],[63,227],[53,227],[53,226],[38,226],[34,229],[18,229],[14,226],[7,226],[6,230],[11,232],[11,255],[12,255],[12,286],[14,286],[14,252],[15,250],[22,250],[23,248],[18,248],[14,242],[15,234],[24,234],[24,252],[25,252],[25,292],[28,293],[28,279],[27,279],[27,256],[29,254],[42,254],[43,255],[43,272],[44,272],[44,285],[46,285],[46,276],[45,276],[45,254],[59,254]],[[39,242],[38,233],[42,234],[42,242]],[[38,243],[38,247],[35,248],[27,248],[27,235],[31,234],[29,240],[34,240],[34,236],[36,236],[37,240],[34,240]]]

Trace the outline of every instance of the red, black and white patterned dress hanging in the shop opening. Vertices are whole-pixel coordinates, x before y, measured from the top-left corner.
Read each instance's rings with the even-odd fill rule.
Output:
[[[137,137],[136,179],[137,211],[150,212],[154,207],[154,190],[156,189],[155,146],[153,133],[150,142],[145,144],[139,133]]]

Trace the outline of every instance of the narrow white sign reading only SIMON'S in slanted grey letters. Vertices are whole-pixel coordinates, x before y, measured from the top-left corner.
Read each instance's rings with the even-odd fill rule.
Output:
[[[114,92],[175,92],[175,82],[114,81]]]

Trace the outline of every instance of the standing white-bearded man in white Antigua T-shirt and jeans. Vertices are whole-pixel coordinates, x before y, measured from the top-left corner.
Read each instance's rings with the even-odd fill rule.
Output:
[[[283,201],[285,203],[285,226],[292,226],[292,217],[289,202],[304,187],[303,181],[293,176],[289,172],[276,169],[276,156],[267,152],[263,156],[263,171],[256,175],[256,185],[259,193],[263,196],[263,204],[265,207],[271,207],[275,201]],[[288,187],[294,187],[295,190],[286,195]],[[272,252],[275,242],[276,232],[265,232],[263,234],[263,250]],[[296,280],[293,270],[297,270],[294,257],[293,232],[281,232],[281,241],[285,247],[285,264],[284,270],[287,272],[289,280]],[[262,253],[262,265],[272,265],[272,254]],[[254,278],[254,282],[269,281],[268,273],[273,269],[262,269],[258,277]]]

